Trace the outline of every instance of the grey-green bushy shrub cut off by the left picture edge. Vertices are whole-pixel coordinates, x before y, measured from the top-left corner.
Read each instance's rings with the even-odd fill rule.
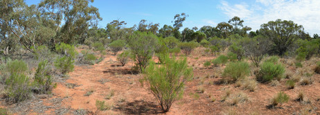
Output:
[[[8,60],[1,66],[6,101],[18,103],[30,97],[30,81],[26,72],[28,65],[22,60]]]

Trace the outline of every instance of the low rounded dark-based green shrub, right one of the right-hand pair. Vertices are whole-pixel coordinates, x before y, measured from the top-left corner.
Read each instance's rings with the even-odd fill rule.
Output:
[[[260,71],[256,75],[259,82],[270,82],[271,80],[281,80],[284,76],[285,68],[281,64],[264,62],[260,66]]]

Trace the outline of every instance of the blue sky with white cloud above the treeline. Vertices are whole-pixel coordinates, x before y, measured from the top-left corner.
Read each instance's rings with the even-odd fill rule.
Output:
[[[26,0],[28,5],[39,2]],[[217,26],[237,16],[252,30],[268,21],[283,19],[302,25],[311,36],[320,33],[319,0],[95,0],[91,5],[99,9],[103,18],[100,28],[116,19],[127,22],[127,27],[138,25],[141,19],[148,24],[159,23],[159,28],[164,24],[172,26],[174,16],[185,12],[189,17],[183,28]]]

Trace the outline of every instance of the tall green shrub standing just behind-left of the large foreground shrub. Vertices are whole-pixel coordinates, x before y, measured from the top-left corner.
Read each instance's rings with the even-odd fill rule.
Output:
[[[130,36],[128,46],[131,49],[132,59],[139,69],[145,69],[157,50],[158,37],[151,33],[135,32]]]

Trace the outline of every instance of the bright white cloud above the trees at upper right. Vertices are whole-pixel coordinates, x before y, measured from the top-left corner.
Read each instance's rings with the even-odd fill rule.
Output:
[[[245,25],[253,30],[261,24],[276,19],[292,20],[303,25],[306,33],[320,33],[320,1],[319,0],[256,0],[248,6],[245,3],[229,5],[222,1],[220,9],[229,18],[238,16],[245,20]]]

